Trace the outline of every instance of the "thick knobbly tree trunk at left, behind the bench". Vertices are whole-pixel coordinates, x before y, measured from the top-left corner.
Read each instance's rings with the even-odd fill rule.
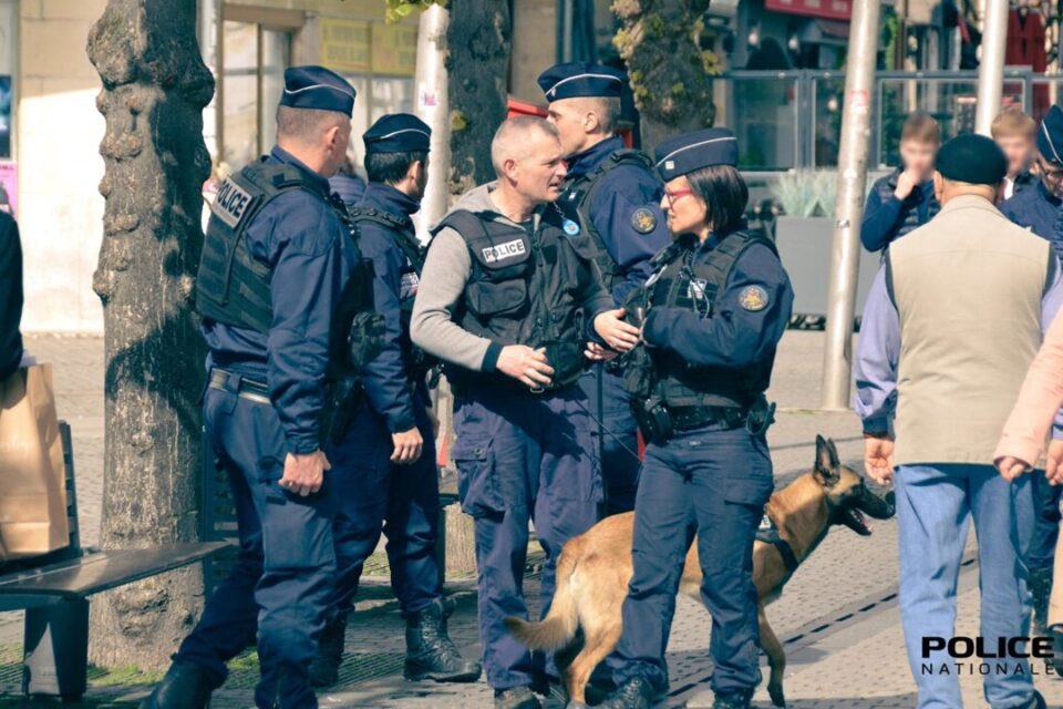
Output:
[[[203,107],[214,79],[196,43],[196,0],[110,0],[89,35],[106,117],[103,302],[106,441],[102,545],[198,537],[203,339],[193,286],[210,169]],[[161,668],[203,602],[198,567],[93,603],[92,659]]]

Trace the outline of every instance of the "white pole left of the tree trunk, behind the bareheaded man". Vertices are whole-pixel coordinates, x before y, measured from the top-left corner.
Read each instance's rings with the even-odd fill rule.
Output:
[[[433,4],[421,13],[417,29],[417,116],[432,129],[429,184],[421,201],[417,236],[427,242],[429,227],[450,208],[447,175],[451,171],[451,119],[446,96],[446,28],[450,13]]]

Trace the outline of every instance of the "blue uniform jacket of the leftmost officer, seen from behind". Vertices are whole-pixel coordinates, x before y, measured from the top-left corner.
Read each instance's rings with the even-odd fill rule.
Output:
[[[324,177],[280,147],[266,162],[295,165],[328,192]],[[292,189],[255,216],[245,239],[250,255],[272,267],[274,322],[262,335],[204,320],[207,369],[265,381],[290,452],[312,453],[320,443],[332,311],[354,265],[347,227],[324,199]]]

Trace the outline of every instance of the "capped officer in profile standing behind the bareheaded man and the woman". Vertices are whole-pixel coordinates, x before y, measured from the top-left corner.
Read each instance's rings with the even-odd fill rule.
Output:
[[[568,177],[555,204],[568,228],[590,242],[606,289],[620,305],[650,276],[650,258],[670,243],[661,213],[663,187],[643,153],[616,134],[627,76],[610,66],[571,62],[543,72],[568,161]],[[638,427],[615,362],[597,363],[580,379],[598,419],[591,427],[601,458],[605,514],[634,508],[640,461]]]

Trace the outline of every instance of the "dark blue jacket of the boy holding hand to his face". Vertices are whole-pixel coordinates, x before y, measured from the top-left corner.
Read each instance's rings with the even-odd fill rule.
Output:
[[[860,243],[869,251],[880,251],[909,232],[933,218],[940,206],[933,196],[933,181],[927,181],[911,191],[901,202],[894,195],[897,189],[898,167],[885,177],[875,181],[864,207],[860,224]]]

